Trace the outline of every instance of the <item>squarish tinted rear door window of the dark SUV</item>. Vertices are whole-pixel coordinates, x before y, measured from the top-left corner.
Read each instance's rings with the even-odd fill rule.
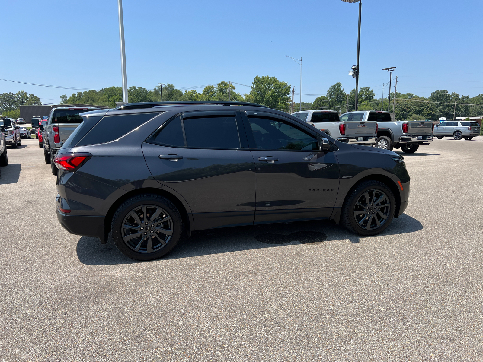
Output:
[[[235,116],[184,118],[186,146],[194,148],[241,148]]]

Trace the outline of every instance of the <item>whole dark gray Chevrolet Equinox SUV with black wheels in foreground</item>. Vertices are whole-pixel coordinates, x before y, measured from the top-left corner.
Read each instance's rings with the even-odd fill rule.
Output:
[[[130,103],[81,113],[54,159],[57,219],[138,260],[195,230],[328,220],[382,232],[408,204],[403,157],[244,102]]]

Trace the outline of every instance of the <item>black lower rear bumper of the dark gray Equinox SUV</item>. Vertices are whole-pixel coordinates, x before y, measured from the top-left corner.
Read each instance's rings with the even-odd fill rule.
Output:
[[[66,215],[56,210],[57,220],[69,233],[85,237],[99,237],[105,244],[107,236],[104,234],[104,216]]]

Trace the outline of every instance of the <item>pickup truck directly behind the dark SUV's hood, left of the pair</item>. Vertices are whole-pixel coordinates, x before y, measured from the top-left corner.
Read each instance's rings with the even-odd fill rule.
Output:
[[[338,141],[365,146],[376,143],[377,122],[352,115],[342,120],[337,111],[298,111],[292,115]]]

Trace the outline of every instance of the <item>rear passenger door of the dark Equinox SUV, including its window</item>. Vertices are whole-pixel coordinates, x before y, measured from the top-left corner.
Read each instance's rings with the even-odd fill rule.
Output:
[[[196,230],[253,224],[255,163],[235,111],[180,114],[142,152],[156,181],[185,198]]]

